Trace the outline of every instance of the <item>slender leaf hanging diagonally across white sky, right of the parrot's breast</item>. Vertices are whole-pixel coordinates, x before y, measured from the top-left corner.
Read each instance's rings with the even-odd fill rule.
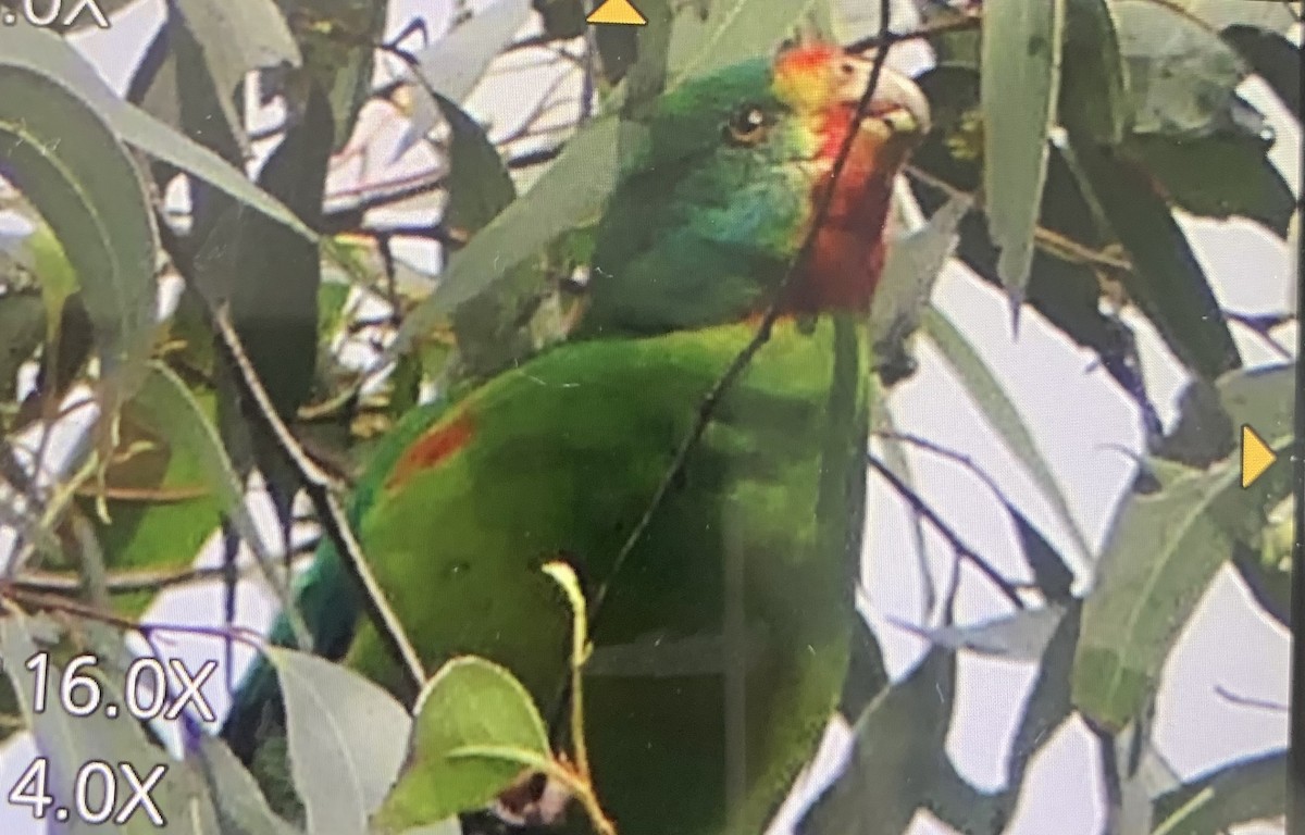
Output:
[[[1047,459],[1043,458],[1041,451],[1037,449],[1037,444],[1024,424],[1024,419],[1021,418],[1015,404],[1002,389],[1001,381],[997,380],[996,374],[983,361],[983,357],[979,356],[966,337],[937,308],[925,311],[923,327],[924,333],[929,335],[929,339],[937,346],[944,359],[947,360],[947,364],[957,373],[966,391],[977,403],[979,410],[988,419],[988,423],[1001,436],[1002,441],[1005,441],[1006,448],[1028,470],[1028,475],[1056,511],[1060,523],[1065,526],[1065,530],[1073,538],[1078,552],[1075,554],[1078,564],[1071,568],[1079,574],[1090,570],[1092,552],[1087,545],[1087,539],[1084,539],[1082,528],[1074,521],[1069,500],[1061,491],[1060,484],[1057,484],[1056,476],[1052,475]]]

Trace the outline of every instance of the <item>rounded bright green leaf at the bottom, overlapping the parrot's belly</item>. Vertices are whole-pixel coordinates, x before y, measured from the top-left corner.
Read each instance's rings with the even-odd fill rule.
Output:
[[[544,720],[521,682],[484,659],[454,659],[418,701],[407,765],[375,822],[402,831],[483,808],[551,757]]]

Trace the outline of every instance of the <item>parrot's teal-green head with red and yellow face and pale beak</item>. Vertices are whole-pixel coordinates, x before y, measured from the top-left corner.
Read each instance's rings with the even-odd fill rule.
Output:
[[[929,129],[924,94],[887,67],[859,112],[873,64],[806,43],[663,95],[596,228],[581,333],[652,334],[756,316],[826,202],[786,286],[784,312],[867,311],[893,180]]]

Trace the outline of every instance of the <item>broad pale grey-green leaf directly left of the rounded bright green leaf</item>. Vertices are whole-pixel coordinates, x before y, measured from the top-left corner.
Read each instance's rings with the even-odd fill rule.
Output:
[[[269,647],[268,658],[286,702],[290,771],[308,831],[367,831],[403,763],[412,727],[407,711],[367,678],[316,655]]]

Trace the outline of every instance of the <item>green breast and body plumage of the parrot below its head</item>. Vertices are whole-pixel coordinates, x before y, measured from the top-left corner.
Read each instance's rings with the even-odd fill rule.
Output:
[[[547,715],[568,615],[539,566],[569,557],[590,594],[608,581],[699,403],[752,334],[569,344],[435,424],[461,421],[465,444],[377,488],[361,524],[429,669],[491,658]],[[599,796],[622,835],[758,832],[813,753],[847,664],[867,380],[851,322],[776,326],[612,578],[586,714]],[[377,483],[393,457],[384,466]],[[369,626],[348,659],[397,685]]]

